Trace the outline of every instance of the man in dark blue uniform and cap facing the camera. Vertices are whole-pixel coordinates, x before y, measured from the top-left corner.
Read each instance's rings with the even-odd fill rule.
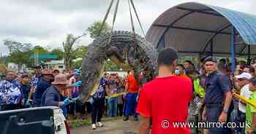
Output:
[[[217,60],[208,57],[204,61],[204,66],[207,72],[206,78],[206,96],[205,108],[203,109],[202,117],[207,122],[228,122],[232,111],[232,93],[231,83],[225,74],[217,71]],[[227,127],[210,126],[209,133],[211,134],[228,134],[231,130]]]

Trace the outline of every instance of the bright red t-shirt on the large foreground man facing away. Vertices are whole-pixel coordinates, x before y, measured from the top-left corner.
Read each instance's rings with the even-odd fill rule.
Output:
[[[189,128],[173,127],[173,122],[187,122],[192,100],[192,82],[181,76],[156,78],[140,90],[137,112],[152,118],[152,134],[187,134]]]

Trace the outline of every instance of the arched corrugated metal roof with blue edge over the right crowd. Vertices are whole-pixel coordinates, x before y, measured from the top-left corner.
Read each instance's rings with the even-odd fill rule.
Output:
[[[165,47],[184,53],[209,52],[213,39],[213,53],[229,55],[232,25],[236,28],[236,43],[240,42],[236,44],[236,53],[246,55],[246,44],[250,44],[252,55],[256,55],[255,15],[195,2],[163,12],[149,28],[146,39],[156,47],[164,39]]]

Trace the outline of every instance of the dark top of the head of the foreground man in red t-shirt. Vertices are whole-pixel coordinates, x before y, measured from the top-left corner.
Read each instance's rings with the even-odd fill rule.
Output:
[[[173,47],[165,47],[162,50],[160,50],[157,63],[158,64],[164,64],[169,65],[174,60],[178,59],[178,53]]]

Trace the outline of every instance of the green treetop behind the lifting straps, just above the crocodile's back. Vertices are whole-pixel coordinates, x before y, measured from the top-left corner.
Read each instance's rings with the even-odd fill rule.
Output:
[[[99,32],[100,32],[100,28],[102,26],[102,23],[100,21],[97,21],[93,24],[91,24],[89,26],[89,28],[87,28],[87,31],[89,32],[90,34],[90,37],[92,39],[94,39],[95,37],[97,37],[99,35]],[[108,25],[107,23],[105,23],[103,26],[102,26],[102,30],[101,30],[101,33],[108,33],[111,31],[111,27],[110,25]]]

